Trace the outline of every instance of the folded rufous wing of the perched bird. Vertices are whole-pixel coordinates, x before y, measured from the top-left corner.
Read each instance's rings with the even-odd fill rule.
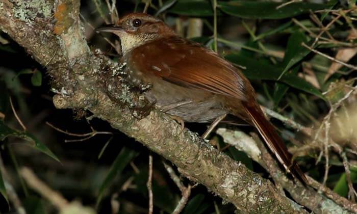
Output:
[[[135,69],[173,84],[245,99],[243,74],[198,43],[180,37],[158,39],[132,50],[130,60]]]

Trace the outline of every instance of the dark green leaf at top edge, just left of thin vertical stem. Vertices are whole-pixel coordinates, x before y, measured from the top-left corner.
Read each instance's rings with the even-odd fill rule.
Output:
[[[185,16],[213,16],[210,1],[180,0],[168,12]]]

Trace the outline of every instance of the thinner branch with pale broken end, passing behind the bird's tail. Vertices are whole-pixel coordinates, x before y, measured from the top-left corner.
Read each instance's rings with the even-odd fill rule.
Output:
[[[357,211],[357,205],[355,203],[352,203],[351,201],[348,201],[341,196],[334,196],[335,201],[333,201],[317,193],[313,189],[302,185],[300,182],[293,182],[291,179],[288,179],[281,168],[277,166],[275,160],[267,151],[258,136],[255,136],[254,141],[241,131],[228,130],[226,128],[219,128],[217,133],[224,138],[226,143],[231,144],[237,149],[246,152],[247,155],[250,156],[254,161],[267,169],[274,181],[278,185],[281,185],[285,190],[287,190],[295,201],[303,204],[314,212],[347,213],[347,211],[344,209],[349,210],[351,213]],[[247,138],[250,140],[246,140]],[[246,146],[246,141],[250,142],[250,147]],[[313,179],[309,177],[309,180],[312,181]],[[312,186],[315,188],[316,184],[313,184]]]

